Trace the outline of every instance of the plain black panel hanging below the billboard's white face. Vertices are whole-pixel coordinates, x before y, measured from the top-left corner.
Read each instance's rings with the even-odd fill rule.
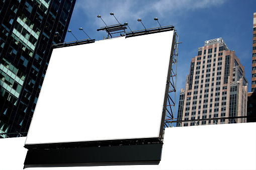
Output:
[[[162,144],[79,147],[59,149],[30,149],[24,167],[158,164]]]

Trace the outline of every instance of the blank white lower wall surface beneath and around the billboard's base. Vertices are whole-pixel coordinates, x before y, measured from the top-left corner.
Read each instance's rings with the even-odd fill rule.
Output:
[[[256,122],[167,128],[158,165],[30,167],[35,169],[256,169]],[[23,169],[26,137],[0,139],[0,169]]]

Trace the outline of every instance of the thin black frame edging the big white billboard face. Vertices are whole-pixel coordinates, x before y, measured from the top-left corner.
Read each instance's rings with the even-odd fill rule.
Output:
[[[142,32],[135,32],[133,34],[129,34],[125,38],[130,38],[134,36],[141,36],[147,34],[154,34],[159,32],[166,32],[166,31],[174,31],[174,27],[168,27],[168,29],[164,28],[163,30],[157,28],[151,31],[142,31]],[[172,62],[174,57],[174,49],[175,49],[175,42],[176,42],[176,32],[174,31],[173,35],[173,42],[170,51],[170,60],[168,65],[167,71],[167,80],[165,86],[165,94],[164,94],[164,101],[162,106],[162,114],[161,114],[161,121],[160,121],[160,128],[159,128],[159,136],[158,137],[151,137],[151,138],[131,138],[131,139],[113,139],[113,140],[97,140],[97,141],[74,141],[74,142],[56,142],[56,143],[38,143],[38,144],[25,144],[25,148],[28,149],[45,149],[45,148],[70,148],[70,147],[95,147],[95,146],[117,146],[117,145],[136,145],[136,144],[159,144],[163,141],[163,130],[164,130],[164,121],[165,121],[165,114],[167,108],[167,100],[168,100],[168,89],[170,84],[170,75],[172,71]],[[88,43],[88,41],[86,42]],[[93,42],[90,42],[93,43]],[[73,43],[71,46],[75,45]],[[66,47],[60,46],[57,48]]]

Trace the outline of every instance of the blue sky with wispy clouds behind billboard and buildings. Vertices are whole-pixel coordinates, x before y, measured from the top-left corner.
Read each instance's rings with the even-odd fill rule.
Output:
[[[155,17],[161,26],[175,26],[179,41],[182,42],[179,44],[178,56],[175,110],[177,117],[179,94],[181,88],[185,88],[191,60],[197,56],[198,48],[203,47],[206,40],[221,37],[229,50],[235,51],[245,67],[248,92],[251,91],[252,26],[255,7],[255,0],[76,0],[69,29],[78,40],[88,38],[78,30],[80,27],[92,39],[102,40],[107,34],[104,31],[97,31],[105,26],[97,16],[101,15],[107,25],[118,24],[110,13],[114,13],[120,23],[127,22],[132,31],[144,29],[137,21],[139,18],[147,29],[159,26],[153,20]],[[65,41],[75,39],[67,33]],[[128,50],[128,47],[121,48]]]

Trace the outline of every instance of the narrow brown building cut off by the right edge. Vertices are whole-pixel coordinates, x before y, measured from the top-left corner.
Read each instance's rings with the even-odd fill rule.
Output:
[[[256,122],[256,13],[253,14],[251,92],[248,93],[247,122]]]

